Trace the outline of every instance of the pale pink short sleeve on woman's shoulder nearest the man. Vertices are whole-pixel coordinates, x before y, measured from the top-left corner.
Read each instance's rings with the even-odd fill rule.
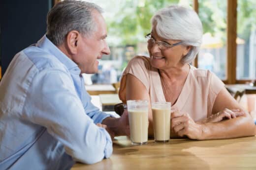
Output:
[[[126,103],[126,75],[131,74],[138,78],[142,84],[146,87],[147,91],[149,91],[150,80],[149,80],[149,71],[150,71],[150,63],[147,57],[144,56],[135,56],[132,58],[123,75],[120,82],[119,89],[119,98]]]

